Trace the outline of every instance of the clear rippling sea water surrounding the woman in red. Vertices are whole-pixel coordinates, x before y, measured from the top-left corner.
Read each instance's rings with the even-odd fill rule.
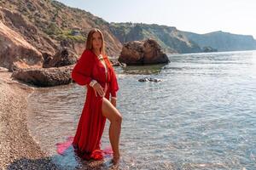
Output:
[[[168,57],[168,65],[115,67],[123,115],[119,169],[256,169],[256,51]],[[162,82],[138,82],[143,77]],[[74,135],[85,92],[73,83],[41,88],[29,99],[30,132],[61,169],[92,167],[73,150],[55,151]],[[109,161],[95,168],[108,169]]]

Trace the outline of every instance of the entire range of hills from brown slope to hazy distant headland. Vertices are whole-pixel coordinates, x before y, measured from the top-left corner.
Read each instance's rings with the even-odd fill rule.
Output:
[[[204,49],[210,49],[207,51],[256,49],[256,42],[252,36],[223,31],[196,34],[179,31],[173,26],[156,24],[108,23],[82,9],[70,8],[52,0],[0,0],[0,22],[5,28],[5,31],[0,32],[3,37],[8,37],[6,30],[12,30],[13,35],[17,35],[22,42],[25,42],[22,43],[23,45],[30,44],[35,48],[29,53],[35,54],[35,58],[43,57],[43,60],[38,61],[40,63],[49,56],[54,56],[63,41],[76,54],[81,54],[91,28],[100,28],[103,31],[107,53],[110,56],[119,56],[124,42],[147,38],[156,40],[166,53],[198,53],[203,52]],[[0,37],[1,48],[7,50],[9,44],[2,41],[3,37]],[[11,37],[9,40],[11,41]],[[15,41],[12,43],[19,46]],[[27,55],[24,54],[24,49],[25,47],[19,48],[19,52]],[[15,50],[12,54],[15,54]],[[6,61],[5,58],[5,52],[0,54],[0,60]]]

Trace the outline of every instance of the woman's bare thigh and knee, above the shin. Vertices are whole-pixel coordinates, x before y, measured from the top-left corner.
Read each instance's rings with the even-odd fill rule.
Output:
[[[110,122],[122,120],[119,111],[104,97],[102,99],[102,115],[107,117]]]

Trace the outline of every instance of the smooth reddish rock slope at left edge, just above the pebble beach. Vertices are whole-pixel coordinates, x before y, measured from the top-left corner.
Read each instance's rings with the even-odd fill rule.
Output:
[[[14,71],[18,68],[39,68],[43,55],[16,31],[0,21],[0,66]]]

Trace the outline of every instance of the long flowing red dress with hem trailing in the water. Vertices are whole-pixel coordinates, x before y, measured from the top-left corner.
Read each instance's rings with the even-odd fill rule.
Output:
[[[79,124],[74,137],[69,137],[66,142],[57,145],[57,152],[63,154],[73,144],[76,153],[86,159],[101,160],[104,154],[111,154],[112,149],[101,150],[102,133],[105,127],[106,117],[102,116],[102,97],[95,94],[94,89],[89,86],[91,80],[96,80],[107,90],[105,98],[109,99],[110,94],[116,97],[119,85],[115,72],[108,59],[103,59],[108,65],[108,77],[106,78],[105,67],[97,59],[96,54],[86,49],[81,55],[78,63],[72,71],[72,78],[81,86],[87,87],[87,94],[84,108],[79,119]]]

